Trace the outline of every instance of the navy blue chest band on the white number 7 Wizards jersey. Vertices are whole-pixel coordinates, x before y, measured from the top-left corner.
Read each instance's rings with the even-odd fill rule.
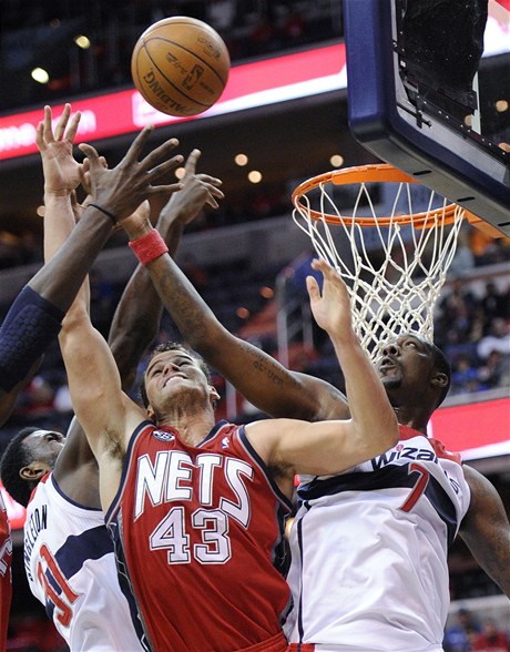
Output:
[[[332,478],[314,478],[297,490],[300,501],[315,500],[322,496],[333,496],[344,491],[378,491],[416,485],[416,471],[409,472],[409,465],[388,466],[369,472],[341,473]],[[429,476],[425,496],[445,522],[448,530],[448,546],[451,546],[457,533],[457,511],[448,493],[439,481]]]

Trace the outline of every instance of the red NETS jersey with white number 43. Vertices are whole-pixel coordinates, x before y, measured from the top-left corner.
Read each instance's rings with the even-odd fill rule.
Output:
[[[188,446],[173,428],[141,424],[106,524],[142,643],[266,650],[289,607],[280,569],[290,510],[243,426],[218,424]]]

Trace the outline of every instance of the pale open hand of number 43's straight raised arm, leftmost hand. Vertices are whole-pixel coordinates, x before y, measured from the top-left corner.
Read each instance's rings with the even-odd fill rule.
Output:
[[[50,106],[44,106],[44,120],[38,124],[35,143],[42,159],[44,191],[68,194],[80,184],[81,165],[72,155],[81,113],[71,116],[71,104],[65,104],[53,132]]]

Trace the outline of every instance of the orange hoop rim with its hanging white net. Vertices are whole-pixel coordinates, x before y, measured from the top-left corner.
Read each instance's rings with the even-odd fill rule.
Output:
[[[387,215],[376,214],[369,183],[391,184]],[[334,196],[339,185],[355,186],[349,215],[341,213]],[[416,186],[421,207],[424,193],[429,194],[420,212],[414,211]],[[432,342],[434,308],[456,253],[462,207],[387,164],[315,176],[294,191],[293,204],[293,218],[317,255],[346,282],[354,329],[374,360],[381,342],[402,333]]]

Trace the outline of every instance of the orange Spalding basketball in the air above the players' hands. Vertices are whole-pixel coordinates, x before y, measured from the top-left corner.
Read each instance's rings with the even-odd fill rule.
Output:
[[[197,115],[223,93],[231,58],[207,23],[183,16],[146,29],[133,50],[131,74],[143,98],[169,115]]]

